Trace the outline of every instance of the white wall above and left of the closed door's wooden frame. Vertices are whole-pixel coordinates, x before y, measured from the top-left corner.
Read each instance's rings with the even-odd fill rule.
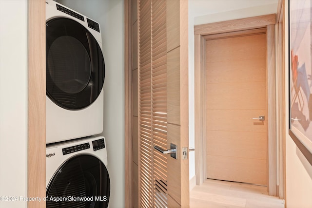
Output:
[[[195,145],[194,125],[194,25],[276,13],[278,0],[189,0],[189,144]],[[195,150],[196,151],[196,150]],[[195,156],[190,153],[190,179],[195,176]],[[192,184],[190,184],[191,187]]]

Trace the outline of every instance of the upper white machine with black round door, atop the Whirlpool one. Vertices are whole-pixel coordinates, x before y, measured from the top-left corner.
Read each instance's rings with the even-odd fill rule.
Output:
[[[46,0],[46,143],[103,131],[105,64],[98,22]]]

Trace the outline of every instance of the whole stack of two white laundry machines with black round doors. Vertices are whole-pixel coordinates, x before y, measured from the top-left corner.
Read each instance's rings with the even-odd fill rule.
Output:
[[[107,208],[105,64],[98,22],[46,0],[47,208]]]

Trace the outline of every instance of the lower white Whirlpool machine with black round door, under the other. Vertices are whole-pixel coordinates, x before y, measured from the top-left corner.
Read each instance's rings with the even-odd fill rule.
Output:
[[[47,146],[46,207],[107,208],[110,179],[105,138]]]

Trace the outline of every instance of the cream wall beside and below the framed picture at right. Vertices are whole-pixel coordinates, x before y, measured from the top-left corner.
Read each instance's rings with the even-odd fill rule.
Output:
[[[287,4],[287,3],[286,3]],[[285,5],[285,39],[288,39],[288,7]],[[285,43],[286,89],[288,89],[288,42]],[[289,96],[286,90],[286,121],[289,120]],[[286,123],[286,206],[287,208],[312,207],[312,166],[297,148],[292,138],[288,135]]]

